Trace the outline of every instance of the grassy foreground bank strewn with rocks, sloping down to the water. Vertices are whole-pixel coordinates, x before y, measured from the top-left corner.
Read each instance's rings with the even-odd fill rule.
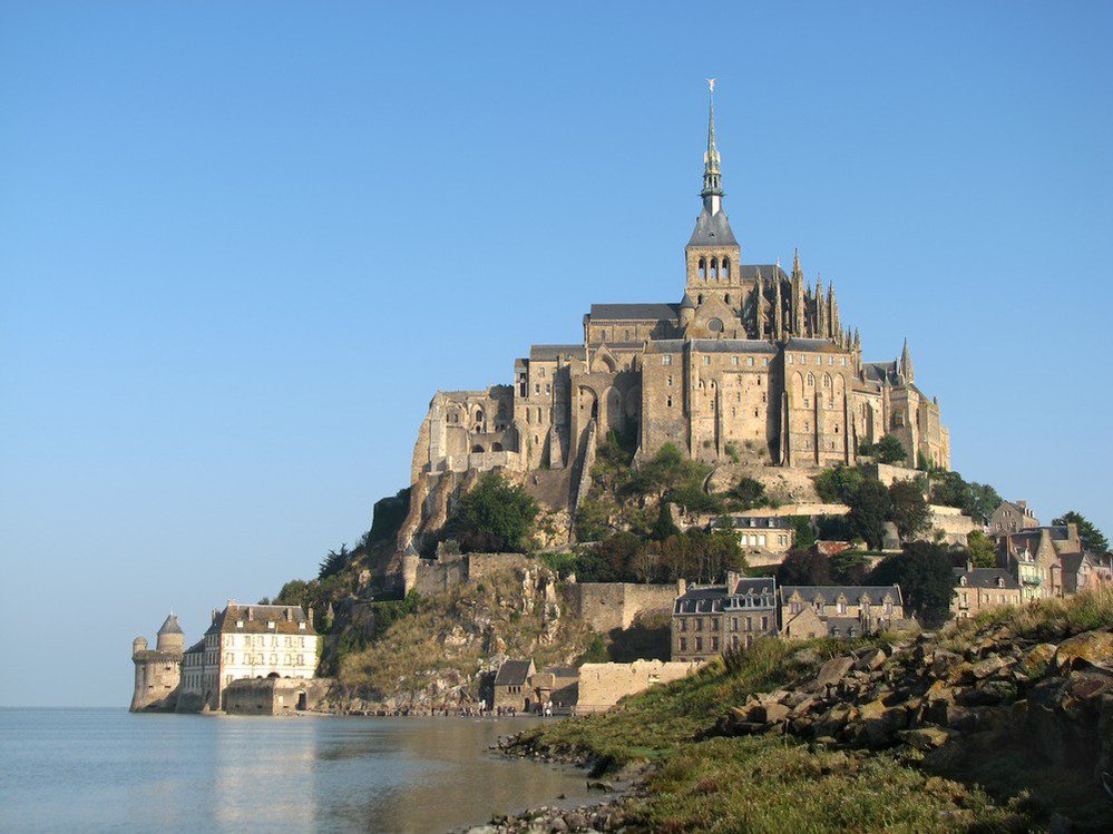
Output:
[[[1105,590],[930,639],[769,640],[507,749],[648,763],[634,831],[1109,831],[1111,629]]]

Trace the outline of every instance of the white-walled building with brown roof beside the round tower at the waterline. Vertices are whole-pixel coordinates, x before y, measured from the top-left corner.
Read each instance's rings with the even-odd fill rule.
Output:
[[[241,678],[312,678],[319,639],[301,606],[230,601],[185,651],[178,709],[223,709],[224,690]]]

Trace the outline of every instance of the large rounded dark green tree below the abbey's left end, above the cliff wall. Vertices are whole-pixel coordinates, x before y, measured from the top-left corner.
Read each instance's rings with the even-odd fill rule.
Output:
[[[447,526],[465,550],[524,552],[537,517],[537,502],[499,472],[486,472],[460,499]]]

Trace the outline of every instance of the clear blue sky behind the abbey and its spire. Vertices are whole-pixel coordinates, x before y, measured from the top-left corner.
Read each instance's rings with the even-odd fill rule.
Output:
[[[743,261],[907,335],[954,465],[1113,532],[1113,6],[0,7],[0,704],[314,573],[438,387]],[[898,8],[901,7],[901,8]]]

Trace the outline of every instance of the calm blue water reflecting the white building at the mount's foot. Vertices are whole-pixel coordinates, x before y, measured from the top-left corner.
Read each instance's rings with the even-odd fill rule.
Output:
[[[531,723],[0,709],[0,831],[445,832],[584,795],[488,754]]]

